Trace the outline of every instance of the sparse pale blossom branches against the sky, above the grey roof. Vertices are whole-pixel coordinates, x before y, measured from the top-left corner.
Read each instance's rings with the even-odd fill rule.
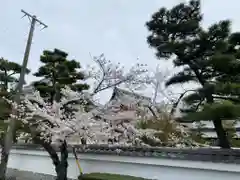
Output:
[[[95,64],[88,66],[87,76],[94,80],[93,94],[120,85],[137,90],[145,88],[148,83],[146,64],[137,63],[127,70],[120,63],[107,60],[104,54],[92,59]]]

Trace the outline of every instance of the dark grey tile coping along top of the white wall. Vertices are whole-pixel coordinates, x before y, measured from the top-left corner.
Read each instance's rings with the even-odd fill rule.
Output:
[[[72,146],[73,147],[73,146]],[[72,152],[69,147],[69,152]],[[164,159],[210,161],[221,163],[240,164],[240,150],[238,149],[216,149],[216,148],[149,148],[149,147],[121,147],[106,145],[76,145],[77,153],[138,156]],[[44,149],[37,144],[15,144],[13,149],[39,150]],[[57,150],[57,148],[55,148]]]

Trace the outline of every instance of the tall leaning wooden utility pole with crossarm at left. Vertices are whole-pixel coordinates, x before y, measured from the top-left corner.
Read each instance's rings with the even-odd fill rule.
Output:
[[[28,17],[28,19],[31,22],[31,26],[30,26],[30,31],[29,31],[29,34],[28,34],[28,40],[27,40],[27,45],[26,45],[24,57],[23,57],[22,69],[21,69],[19,81],[18,81],[17,87],[15,89],[14,101],[17,104],[20,103],[20,97],[21,97],[21,94],[22,94],[23,84],[24,84],[24,81],[25,81],[24,77],[25,77],[25,73],[26,73],[26,69],[27,69],[28,58],[29,58],[29,54],[30,54],[30,49],[31,49],[31,44],[32,44],[35,25],[36,25],[36,23],[38,23],[41,26],[43,26],[42,29],[47,28],[47,25],[44,24],[39,19],[37,19],[37,17],[35,15],[31,15],[24,10],[21,10],[21,12],[24,14],[23,17]],[[16,110],[13,110],[12,114],[16,115],[17,114]],[[10,149],[11,149],[11,146],[12,146],[12,143],[13,143],[13,132],[15,130],[15,121],[16,121],[15,118],[11,118],[10,123],[8,125],[6,135],[5,135],[5,143],[4,143],[4,147],[2,147],[2,155],[1,155],[0,180],[5,179],[7,163],[8,163],[8,158],[9,158],[9,152],[10,152]]]

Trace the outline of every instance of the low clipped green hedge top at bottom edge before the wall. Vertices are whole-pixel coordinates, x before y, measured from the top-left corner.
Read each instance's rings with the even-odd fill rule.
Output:
[[[125,176],[119,174],[91,173],[84,174],[79,180],[146,180],[140,177]]]

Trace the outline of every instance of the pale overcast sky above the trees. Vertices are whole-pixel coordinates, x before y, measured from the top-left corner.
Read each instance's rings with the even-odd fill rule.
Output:
[[[62,49],[69,58],[83,66],[91,64],[92,55],[104,53],[113,62],[130,66],[137,62],[166,63],[156,60],[146,43],[145,22],[162,6],[171,7],[183,0],[0,0],[0,56],[22,62],[29,20],[21,9],[35,14],[49,27],[36,27],[28,67],[35,72],[44,49]],[[233,29],[240,29],[237,0],[202,0],[204,26],[222,19],[231,19]],[[164,65],[162,65],[164,64]],[[28,76],[27,81],[34,80]]]

